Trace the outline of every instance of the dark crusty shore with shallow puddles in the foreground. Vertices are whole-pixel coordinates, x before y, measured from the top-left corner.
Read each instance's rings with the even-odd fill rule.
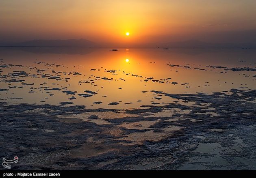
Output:
[[[19,157],[13,169],[256,169],[256,90],[151,92],[180,102],[132,110],[0,102],[1,157]]]

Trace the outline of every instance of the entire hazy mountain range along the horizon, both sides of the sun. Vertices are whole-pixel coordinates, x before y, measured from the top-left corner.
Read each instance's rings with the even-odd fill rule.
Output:
[[[86,39],[67,39],[67,40],[32,40],[21,43],[14,43],[8,46],[22,47],[111,47],[111,45],[97,44]],[[133,45],[128,45],[132,47]],[[121,46],[120,46],[121,47]],[[196,47],[196,48],[211,48],[211,47],[241,47],[255,48],[256,43],[207,43],[199,40],[187,40],[169,43],[149,43],[144,45],[134,45],[134,47]]]

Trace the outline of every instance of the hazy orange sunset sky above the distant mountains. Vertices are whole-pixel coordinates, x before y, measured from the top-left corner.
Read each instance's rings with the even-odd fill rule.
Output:
[[[130,36],[125,33],[130,32]],[[0,0],[0,43],[256,41],[256,0]]]

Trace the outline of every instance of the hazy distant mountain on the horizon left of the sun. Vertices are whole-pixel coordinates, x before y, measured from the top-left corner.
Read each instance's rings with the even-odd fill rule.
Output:
[[[32,40],[22,43],[15,43],[11,46],[37,46],[37,47],[93,47],[95,43],[85,39],[67,40]]]

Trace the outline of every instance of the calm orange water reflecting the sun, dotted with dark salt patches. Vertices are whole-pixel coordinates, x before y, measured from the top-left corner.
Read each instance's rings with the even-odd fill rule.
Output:
[[[190,104],[152,90],[256,89],[256,49],[109,49],[0,47],[0,101],[132,109]]]

